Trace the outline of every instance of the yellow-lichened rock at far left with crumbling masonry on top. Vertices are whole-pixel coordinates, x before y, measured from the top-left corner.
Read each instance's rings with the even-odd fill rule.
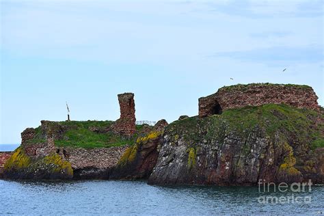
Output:
[[[35,129],[21,133],[21,146],[17,148],[3,169],[4,178],[14,179],[71,179],[73,170],[70,163],[55,152],[53,137],[31,142]]]

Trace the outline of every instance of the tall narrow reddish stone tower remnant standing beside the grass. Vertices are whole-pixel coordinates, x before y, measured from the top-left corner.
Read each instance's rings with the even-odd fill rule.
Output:
[[[131,136],[135,133],[135,101],[133,93],[118,94],[120,118],[113,126],[113,131],[120,135]]]

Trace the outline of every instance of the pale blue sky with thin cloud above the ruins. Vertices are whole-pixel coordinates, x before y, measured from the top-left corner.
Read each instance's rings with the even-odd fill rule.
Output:
[[[310,85],[324,106],[323,1],[0,6],[0,144],[66,120],[66,101],[72,120],[116,120],[123,92],[150,121],[196,116],[198,98],[237,83]]]

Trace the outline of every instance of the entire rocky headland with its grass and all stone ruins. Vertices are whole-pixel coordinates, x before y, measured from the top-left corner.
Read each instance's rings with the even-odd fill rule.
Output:
[[[119,99],[116,122],[42,121],[23,131],[21,147],[4,165],[4,178],[324,183],[324,111],[311,87],[223,87],[200,98],[199,116],[155,126],[135,125],[133,94]]]

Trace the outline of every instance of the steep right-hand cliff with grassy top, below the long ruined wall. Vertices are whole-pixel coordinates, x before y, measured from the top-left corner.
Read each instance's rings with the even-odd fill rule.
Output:
[[[187,118],[165,129],[150,184],[324,183],[321,113],[286,105]],[[316,139],[316,134],[321,134]],[[323,144],[322,144],[323,145]]]

